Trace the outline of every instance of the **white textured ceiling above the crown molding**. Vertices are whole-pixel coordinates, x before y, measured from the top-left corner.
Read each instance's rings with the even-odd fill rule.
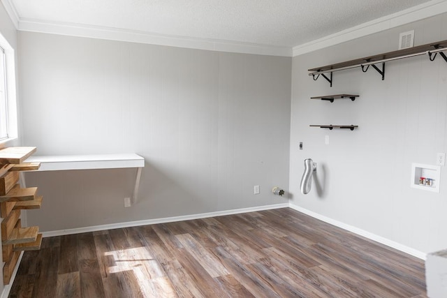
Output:
[[[429,0],[9,0],[19,20],[293,47]]]

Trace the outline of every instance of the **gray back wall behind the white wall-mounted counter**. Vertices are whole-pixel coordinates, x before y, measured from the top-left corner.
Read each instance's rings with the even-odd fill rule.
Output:
[[[22,139],[36,155],[136,153],[135,170],[27,174],[43,231],[288,202],[291,58],[19,32]],[[254,185],[261,194],[254,195]]]

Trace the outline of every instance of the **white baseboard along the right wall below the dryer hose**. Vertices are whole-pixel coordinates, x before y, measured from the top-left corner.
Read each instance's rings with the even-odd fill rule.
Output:
[[[295,209],[296,211],[300,211],[304,214],[307,214],[308,216],[312,216],[313,218],[319,219],[320,221],[324,221],[325,223],[330,223],[331,225],[335,225],[338,228],[342,228],[344,230],[348,230],[349,232],[353,232],[355,234],[358,234],[362,237],[366,237],[367,239],[379,242],[381,244],[384,244],[386,246],[390,246],[391,248],[397,249],[397,251],[402,251],[403,253],[408,253],[409,255],[413,255],[413,257],[419,258],[421,260],[427,259],[427,254],[423,253],[421,251],[417,251],[414,248],[404,246],[403,244],[397,243],[395,241],[392,241],[390,239],[386,239],[384,237],[378,236],[376,234],[373,234],[371,232],[367,232],[365,230],[359,229],[354,227],[353,225],[348,225],[346,223],[342,223],[341,221],[336,221],[335,219],[323,216],[321,214],[317,214],[314,211],[307,210],[305,208],[299,207],[295,204],[289,204],[289,207],[291,209]]]

